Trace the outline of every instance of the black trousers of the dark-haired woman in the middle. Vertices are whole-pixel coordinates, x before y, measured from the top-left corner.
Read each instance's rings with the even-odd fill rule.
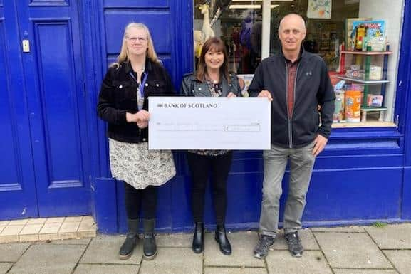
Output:
[[[195,222],[204,219],[204,193],[211,172],[212,194],[217,225],[223,225],[227,210],[227,177],[233,154],[203,156],[187,152],[192,178],[192,214]]]

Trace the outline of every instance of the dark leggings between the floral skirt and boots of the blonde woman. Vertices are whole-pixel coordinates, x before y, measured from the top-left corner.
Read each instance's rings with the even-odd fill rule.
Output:
[[[125,192],[125,211],[127,211],[127,218],[140,218],[140,209],[142,211],[142,218],[155,218],[155,211],[157,209],[157,187],[147,186],[145,189],[135,189],[124,182]]]

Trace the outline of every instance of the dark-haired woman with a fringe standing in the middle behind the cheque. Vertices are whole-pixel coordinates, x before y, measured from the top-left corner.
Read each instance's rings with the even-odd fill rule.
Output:
[[[236,97],[241,92],[239,78],[228,71],[228,56],[224,42],[209,38],[202,46],[199,67],[195,73],[184,77],[181,93],[184,96]],[[231,167],[232,152],[228,150],[190,150],[187,161],[192,177],[192,214],[195,223],[192,250],[204,250],[204,192],[211,173],[214,210],[217,228],[215,240],[220,251],[231,254],[231,245],[225,231],[227,209],[227,177]]]

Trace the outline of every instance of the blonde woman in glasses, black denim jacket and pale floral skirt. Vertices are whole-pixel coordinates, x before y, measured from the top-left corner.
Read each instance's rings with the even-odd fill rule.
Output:
[[[140,210],[144,258],[151,260],[157,254],[157,186],[175,176],[175,164],[170,151],[148,150],[147,97],[172,95],[170,76],[157,58],[147,26],[128,24],[120,55],[105,75],[98,100],[98,116],[108,122],[111,173],[124,181],[128,233],[120,259],[130,258],[137,244]]]

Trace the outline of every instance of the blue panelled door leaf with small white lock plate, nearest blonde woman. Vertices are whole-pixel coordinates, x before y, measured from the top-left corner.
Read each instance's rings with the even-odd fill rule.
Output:
[[[94,106],[85,103],[79,1],[13,2],[20,39],[30,43],[21,56],[38,216],[90,214],[85,112]]]

